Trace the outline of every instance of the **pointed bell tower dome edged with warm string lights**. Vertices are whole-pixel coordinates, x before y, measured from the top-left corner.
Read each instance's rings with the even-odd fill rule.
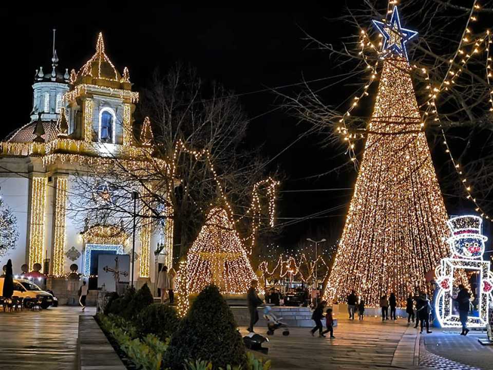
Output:
[[[96,53],[92,55],[79,70],[75,81],[75,85],[79,83],[87,83],[98,86],[106,86],[111,88],[122,88],[122,76],[117,71],[113,63],[111,63],[108,55],[104,50],[103,34],[98,35],[96,43]]]

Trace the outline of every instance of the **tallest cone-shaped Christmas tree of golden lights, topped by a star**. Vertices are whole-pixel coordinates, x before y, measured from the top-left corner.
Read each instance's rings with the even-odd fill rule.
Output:
[[[405,42],[394,8],[365,152],[325,292],[345,301],[354,289],[376,306],[383,294],[402,301],[447,255],[447,212],[422,130]],[[395,36],[398,33],[399,37]],[[393,34],[393,36],[390,36]]]

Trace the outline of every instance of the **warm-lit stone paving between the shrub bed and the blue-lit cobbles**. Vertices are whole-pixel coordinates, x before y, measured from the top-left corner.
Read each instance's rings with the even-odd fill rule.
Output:
[[[264,345],[269,347],[267,357],[272,360],[273,370],[391,368],[395,350],[408,329],[407,321],[338,319],[339,325],[334,328],[336,338],[333,340],[313,338],[308,328],[290,328],[291,334],[287,337],[277,331],[270,337],[270,342]],[[245,334],[246,330],[241,329],[242,334]],[[255,331],[266,333],[264,327],[256,327]],[[414,343],[409,347],[408,350],[402,348],[401,359],[406,356],[413,358]]]

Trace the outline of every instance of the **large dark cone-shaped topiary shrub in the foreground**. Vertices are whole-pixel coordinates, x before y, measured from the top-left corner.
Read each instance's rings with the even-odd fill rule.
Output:
[[[214,368],[227,364],[247,367],[247,350],[233,312],[214,285],[197,295],[164,358],[165,366],[173,370],[182,370],[186,360],[198,359],[211,361]]]

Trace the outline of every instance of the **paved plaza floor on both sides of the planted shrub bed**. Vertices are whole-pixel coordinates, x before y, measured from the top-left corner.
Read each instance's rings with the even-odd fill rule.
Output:
[[[94,315],[94,308],[0,312],[0,368],[75,369],[79,315]],[[432,334],[419,335],[403,319],[338,320],[333,340],[312,337],[309,328],[291,328],[288,337],[276,332],[266,345],[273,369],[493,370],[493,346],[478,342],[486,337],[484,332],[471,331],[462,337],[458,331],[433,328]],[[240,328],[242,334],[245,329]],[[256,331],[266,333],[264,327]]]

